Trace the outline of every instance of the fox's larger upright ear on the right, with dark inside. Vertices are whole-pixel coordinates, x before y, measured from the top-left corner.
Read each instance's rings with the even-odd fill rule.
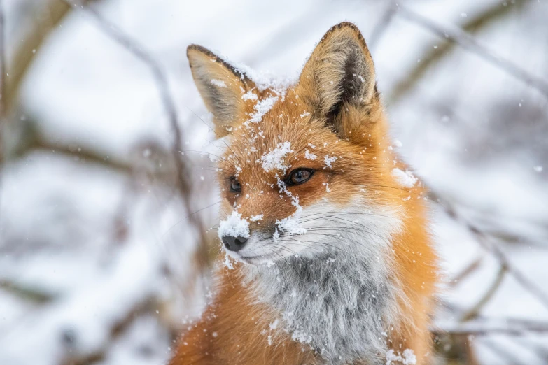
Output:
[[[343,106],[364,108],[377,99],[373,59],[356,25],[343,22],[323,36],[304,65],[297,93],[337,133]]]

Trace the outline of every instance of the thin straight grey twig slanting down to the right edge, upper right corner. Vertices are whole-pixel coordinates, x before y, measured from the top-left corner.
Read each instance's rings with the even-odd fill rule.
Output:
[[[494,66],[497,66],[499,69],[502,69],[503,71],[509,73],[515,78],[521,80],[526,85],[535,88],[536,90],[548,97],[548,82],[546,80],[542,80],[541,78],[532,75],[528,71],[521,69],[521,67],[517,66],[513,62],[508,61],[507,59],[504,59],[503,57],[494,55],[493,52],[485,48],[483,45],[480,45],[475,40],[475,38],[470,36],[470,34],[466,33],[462,29],[449,29],[448,27],[443,27],[440,24],[429,20],[427,17],[423,17],[422,15],[414,13],[404,6],[398,7],[397,14],[405,17],[411,22],[419,24],[421,27],[432,31],[434,34],[437,34],[437,36],[457,43],[462,48],[465,48],[466,50],[475,53],[479,57],[485,59],[487,62],[490,62]]]

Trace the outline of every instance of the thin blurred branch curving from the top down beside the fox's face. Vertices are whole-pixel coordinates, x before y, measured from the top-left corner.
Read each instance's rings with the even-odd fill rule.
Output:
[[[158,92],[160,93],[160,99],[166,110],[167,117],[169,119],[169,124],[171,125],[172,133],[174,134],[173,140],[173,155],[177,172],[176,179],[176,188],[181,194],[185,210],[190,213],[192,210],[191,204],[191,186],[190,186],[190,173],[187,171],[185,163],[183,162],[183,148],[182,148],[182,132],[179,127],[178,115],[176,110],[176,104],[169,92],[169,83],[167,80],[167,75],[164,73],[160,64],[150,55],[150,52],[144,50],[144,48],[139,45],[139,43],[132,39],[130,36],[125,34],[122,30],[108,22],[96,9],[90,6],[83,6],[81,3],[72,5],[69,0],[60,0],[69,6],[75,8],[82,8],[88,13],[99,25],[99,29],[103,31],[107,36],[109,36],[113,41],[118,43],[122,48],[125,48],[127,51],[132,53],[137,59],[140,59],[141,62],[146,64],[150,69],[153,78],[156,83]],[[190,223],[197,229],[199,234],[199,244],[197,246],[197,251],[195,252],[194,263],[197,266],[197,270],[192,270],[192,273],[201,273],[203,269],[208,266],[209,260],[207,255],[208,244],[206,236],[204,234],[204,225],[199,219],[198,215],[192,214],[188,217]],[[189,288],[192,287],[192,281],[189,280]]]

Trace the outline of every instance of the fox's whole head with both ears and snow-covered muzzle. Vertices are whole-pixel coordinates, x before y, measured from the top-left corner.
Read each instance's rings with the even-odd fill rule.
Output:
[[[388,239],[385,227],[407,194],[355,25],[332,27],[285,89],[251,80],[199,45],[188,47],[188,59],[225,143],[218,180],[227,217],[218,233],[228,255],[265,264],[357,245],[356,232]]]

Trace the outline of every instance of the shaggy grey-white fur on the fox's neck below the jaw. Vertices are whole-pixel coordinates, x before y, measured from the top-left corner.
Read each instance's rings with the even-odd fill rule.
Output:
[[[385,228],[361,232],[359,238],[341,231],[341,242],[333,243],[337,249],[246,269],[251,296],[277,316],[267,329],[271,338],[286,332],[329,364],[364,358],[383,363],[387,332],[399,323],[397,298],[402,296],[391,269],[389,233],[394,227]]]

